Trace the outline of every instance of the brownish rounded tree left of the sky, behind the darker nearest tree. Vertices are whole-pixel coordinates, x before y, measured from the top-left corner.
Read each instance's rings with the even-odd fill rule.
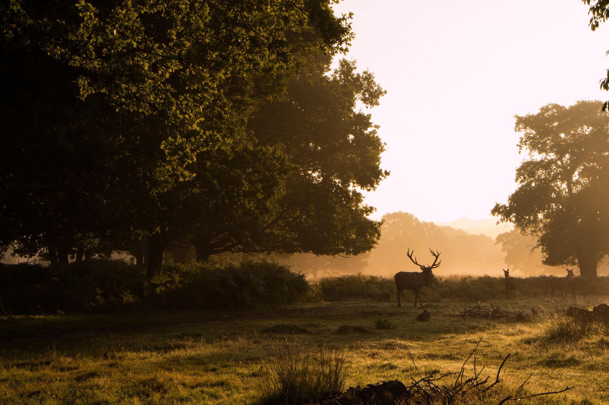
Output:
[[[367,218],[373,209],[360,190],[388,173],[379,167],[376,126],[356,105],[378,105],[385,92],[354,62],[329,72],[330,62],[309,58],[283,97],[253,112],[245,163],[231,153],[233,162],[227,156],[214,171],[213,156],[197,158],[206,166],[192,190],[212,189],[192,195],[183,221],[169,221],[192,226],[197,260],[223,252],[357,255],[375,245],[379,223]]]

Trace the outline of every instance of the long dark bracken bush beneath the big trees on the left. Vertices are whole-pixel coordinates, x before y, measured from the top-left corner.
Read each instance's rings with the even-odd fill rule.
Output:
[[[308,288],[303,275],[267,262],[171,265],[150,282],[143,269],[120,260],[49,267],[23,263],[0,265],[0,313],[250,308],[295,302]]]

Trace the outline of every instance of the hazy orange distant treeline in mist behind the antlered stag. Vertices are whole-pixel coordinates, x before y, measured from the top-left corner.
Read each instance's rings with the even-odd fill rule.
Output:
[[[273,255],[273,260],[312,275],[314,279],[357,272],[393,277],[398,271],[418,271],[406,256],[408,249],[414,250],[418,260],[425,263],[433,259],[429,254],[431,247],[442,252],[442,266],[434,271],[438,275],[500,276],[503,274],[502,268],[510,268],[512,274],[523,276],[566,274],[564,266],[544,265],[541,248],[533,249],[537,240],[518,230],[504,232],[493,240],[487,235],[473,235],[450,226],[420,221],[406,212],[388,213],[382,217],[382,221],[378,244],[365,254],[348,258],[310,254]],[[607,274],[609,267],[601,265],[599,272]]]

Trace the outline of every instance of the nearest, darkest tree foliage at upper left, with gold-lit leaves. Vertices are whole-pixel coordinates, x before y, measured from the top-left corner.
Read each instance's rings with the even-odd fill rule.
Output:
[[[224,247],[253,248],[246,225],[264,234],[288,162],[276,142],[256,144],[248,118],[307,58],[353,37],[328,0],[17,0],[0,12],[15,152],[0,163],[0,246],[67,263],[148,235],[150,277],[171,240],[228,213],[235,226],[213,229],[231,235]]]

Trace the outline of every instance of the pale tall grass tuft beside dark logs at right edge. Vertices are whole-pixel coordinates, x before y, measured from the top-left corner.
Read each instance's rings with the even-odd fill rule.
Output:
[[[594,319],[571,317],[566,314],[565,303],[554,311],[543,308],[541,314],[542,338],[545,341],[572,342],[598,334],[609,334],[609,325]]]

